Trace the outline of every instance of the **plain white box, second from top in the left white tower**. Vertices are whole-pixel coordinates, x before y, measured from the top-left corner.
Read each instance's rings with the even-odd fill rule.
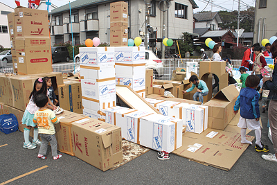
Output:
[[[116,69],[114,64],[107,64],[106,67],[80,66],[80,76],[84,79],[102,80],[105,78],[114,78]]]

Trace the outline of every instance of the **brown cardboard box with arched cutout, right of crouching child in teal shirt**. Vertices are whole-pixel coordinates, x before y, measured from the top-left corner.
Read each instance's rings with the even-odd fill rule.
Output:
[[[204,101],[212,98],[212,80],[210,74],[215,74],[219,79],[220,90],[228,86],[228,73],[226,73],[226,62],[216,61],[200,61],[199,64],[199,79],[204,80],[208,86],[208,95],[204,96]],[[193,75],[193,73],[192,73]],[[210,78],[210,79],[208,79]]]

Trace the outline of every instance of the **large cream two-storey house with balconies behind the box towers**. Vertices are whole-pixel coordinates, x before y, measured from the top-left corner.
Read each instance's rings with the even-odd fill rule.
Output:
[[[109,44],[109,7],[111,0],[76,0],[71,2],[71,17],[69,4],[55,8],[50,14],[51,43],[71,41],[82,44],[87,38],[99,37],[100,42]],[[128,37],[145,35],[145,0],[128,0]],[[150,44],[154,46],[156,31],[158,42],[162,43],[162,31],[165,37],[179,39],[182,33],[193,33],[193,9],[198,8],[193,0],[170,1],[167,3],[166,24],[163,26],[163,11],[160,10],[163,1],[150,1],[150,26],[154,32],[150,34]],[[168,2],[168,1],[166,1]],[[71,31],[72,21],[72,31]],[[161,46],[161,44],[160,44]],[[159,47],[159,46],[158,46]]]

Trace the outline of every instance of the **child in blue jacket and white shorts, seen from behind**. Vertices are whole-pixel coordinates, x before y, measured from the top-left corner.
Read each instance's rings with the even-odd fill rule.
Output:
[[[246,133],[247,128],[250,130],[255,130],[256,135],[256,152],[268,152],[268,146],[265,146],[260,141],[261,128],[260,128],[260,110],[259,110],[259,94],[256,91],[260,83],[260,78],[255,75],[250,75],[247,77],[245,82],[246,88],[240,90],[240,95],[234,106],[234,113],[238,113],[240,109],[240,121],[238,122],[238,127],[241,128],[240,136],[242,137],[241,143],[252,144],[251,141],[247,141]]]

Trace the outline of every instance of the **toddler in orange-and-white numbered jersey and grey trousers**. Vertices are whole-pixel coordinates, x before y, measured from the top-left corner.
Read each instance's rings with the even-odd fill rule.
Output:
[[[45,94],[39,94],[35,97],[35,104],[39,107],[39,110],[35,112],[33,122],[39,127],[39,136],[42,138],[42,145],[39,148],[40,159],[46,159],[44,155],[47,152],[48,142],[51,144],[53,159],[59,159],[62,155],[57,155],[57,139],[55,137],[55,127],[53,124],[59,123],[59,118],[48,106],[48,97]]]

